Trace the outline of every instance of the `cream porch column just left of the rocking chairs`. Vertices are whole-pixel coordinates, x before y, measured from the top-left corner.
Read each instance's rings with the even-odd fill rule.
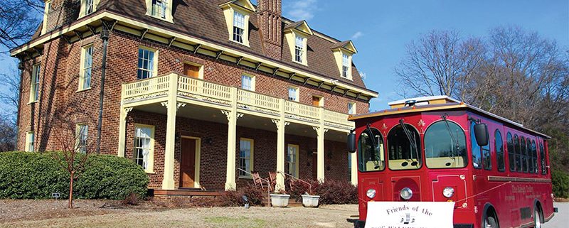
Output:
[[[231,110],[222,110],[221,112],[227,116],[228,131],[227,131],[227,170],[225,173],[225,190],[235,190],[237,184],[235,183],[235,154],[237,150],[235,144],[237,143],[237,119],[243,114],[237,113],[237,88],[231,88]]]

